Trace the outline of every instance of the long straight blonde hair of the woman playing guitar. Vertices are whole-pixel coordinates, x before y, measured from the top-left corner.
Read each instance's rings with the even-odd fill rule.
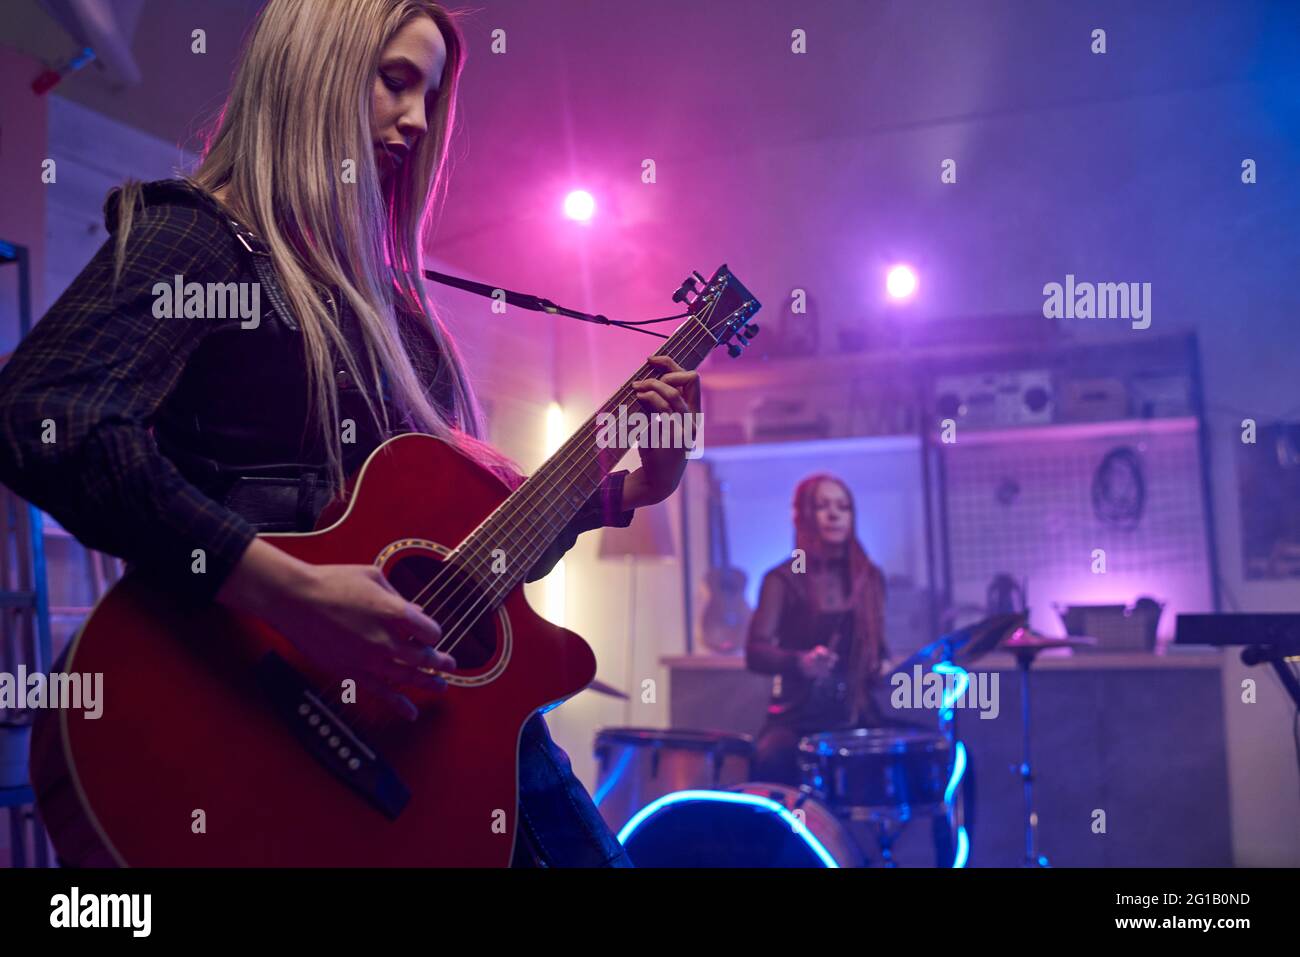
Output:
[[[403,26],[430,17],[447,48],[428,134],[381,187],[370,138],[370,94],[381,53]],[[187,179],[228,205],[269,247],[303,332],[308,394],[335,488],[344,480],[334,354],[377,424],[393,428],[378,400],[387,378],[403,429],[451,442],[512,488],[519,467],[484,441],[482,410],[459,350],[425,291],[422,239],[446,192],[447,143],[465,61],[456,14],[432,0],[269,0],[247,39],[234,85],[214,120],[203,160]],[[343,181],[351,161],[355,182]],[[139,196],[126,183],[118,263]],[[338,289],[358,316],[364,355],[354,356],[338,315],[322,302]],[[403,345],[400,322],[436,354],[430,400]]]

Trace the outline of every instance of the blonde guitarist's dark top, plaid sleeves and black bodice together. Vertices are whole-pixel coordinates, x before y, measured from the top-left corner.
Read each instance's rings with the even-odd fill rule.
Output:
[[[229,319],[159,319],[159,282],[252,283],[252,256],[222,207],[183,181],[147,183],[113,286],[109,239],[35,325],[0,372],[0,481],[57,519],[84,545],[211,599],[259,531],[287,531],[270,499],[244,494],[250,477],[324,475],[325,451],[307,402],[300,333],[260,296],[256,328]],[[341,326],[356,342],[346,303]],[[437,356],[403,329],[416,368],[439,400]],[[432,342],[432,339],[429,339]],[[386,438],[356,386],[339,377],[344,445],[355,471]],[[391,419],[390,419],[391,421]],[[304,469],[306,467],[306,469]],[[625,471],[610,475],[529,571],[545,575],[578,533],[628,525]],[[287,525],[311,527],[324,498],[307,495]],[[203,549],[207,571],[191,571]]]

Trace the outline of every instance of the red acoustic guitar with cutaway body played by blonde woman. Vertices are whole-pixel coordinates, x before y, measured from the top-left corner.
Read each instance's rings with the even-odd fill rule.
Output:
[[[723,343],[738,355],[758,332],[759,304],[725,265],[675,299],[686,319],[662,354],[682,368]],[[625,451],[601,447],[598,416],[636,411],[630,382],[659,372],[642,365],[511,494],[447,443],[407,434],[370,455],[328,528],[264,536],[312,563],[373,562],[439,623],[458,668],[446,692],[402,689],[420,706],[415,723],[342,703],[338,676],[315,672],[255,619],[122,579],[64,668],[103,672],[103,715],[47,711],[35,729],[32,781],[60,856],[507,866],[520,729],[595,676],[592,649],[540,618],[521,583]]]

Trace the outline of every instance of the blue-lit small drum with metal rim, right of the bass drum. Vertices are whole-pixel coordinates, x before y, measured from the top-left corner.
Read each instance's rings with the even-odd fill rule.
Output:
[[[853,728],[800,741],[803,783],[854,820],[942,811],[952,766],[949,740],[920,728]]]

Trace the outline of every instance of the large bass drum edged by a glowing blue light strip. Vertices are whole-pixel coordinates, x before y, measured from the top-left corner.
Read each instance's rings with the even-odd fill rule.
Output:
[[[862,849],[806,788],[749,783],[667,794],[619,835],[637,867],[863,867]]]

